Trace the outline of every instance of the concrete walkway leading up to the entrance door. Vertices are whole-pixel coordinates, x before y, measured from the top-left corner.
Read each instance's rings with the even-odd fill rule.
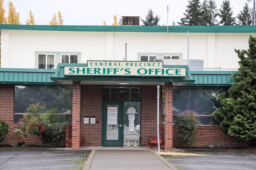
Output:
[[[92,169],[176,169],[153,150],[92,150],[86,166]]]

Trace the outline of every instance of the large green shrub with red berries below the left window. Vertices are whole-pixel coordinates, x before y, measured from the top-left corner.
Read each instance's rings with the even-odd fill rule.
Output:
[[[66,126],[68,122],[59,123],[57,108],[47,110],[44,104],[30,104],[24,115],[23,129],[25,136],[37,135],[40,137],[42,147],[60,147],[62,139],[66,138]],[[39,114],[46,113],[46,114]],[[17,133],[18,134],[18,133]],[[13,134],[14,136],[17,134]]]

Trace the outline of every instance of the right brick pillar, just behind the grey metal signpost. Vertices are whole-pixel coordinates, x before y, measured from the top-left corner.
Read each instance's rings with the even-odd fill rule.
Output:
[[[173,148],[173,84],[165,83],[165,150]]]

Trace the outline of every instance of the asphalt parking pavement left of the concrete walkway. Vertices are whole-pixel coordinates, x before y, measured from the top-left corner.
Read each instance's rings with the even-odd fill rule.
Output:
[[[0,151],[0,170],[80,169],[90,150]]]

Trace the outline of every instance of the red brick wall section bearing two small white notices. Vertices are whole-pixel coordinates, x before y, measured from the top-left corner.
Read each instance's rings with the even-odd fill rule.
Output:
[[[82,85],[82,122],[80,135],[85,146],[101,146],[102,86]],[[83,124],[84,116],[96,116],[96,124]],[[90,123],[90,121],[89,121]]]

